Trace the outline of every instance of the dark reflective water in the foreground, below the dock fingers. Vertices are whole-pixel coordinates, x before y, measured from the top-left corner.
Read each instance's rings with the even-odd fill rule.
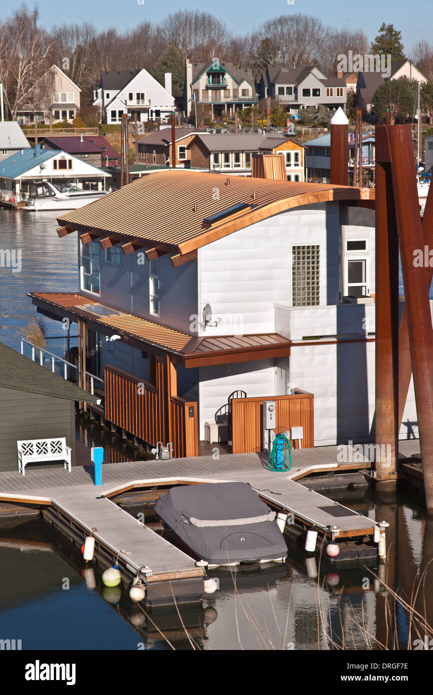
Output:
[[[404,497],[397,501],[373,500],[370,490],[364,489],[345,503],[389,521],[388,582],[407,596],[433,557],[433,523],[425,521],[415,502]],[[131,513],[139,511],[136,507]],[[101,585],[98,568],[97,587],[88,589],[81,555],[38,520],[13,530],[0,528],[0,567],[0,637],[22,639],[23,649],[170,649],[167,640],[176,649],[192,648],[174,610],[150,614],[165,639],[131,603],[127,589]],[[389,601],[387,610],[392,615],[391,598],[375,594],[373,575],[364,568],[327,567],[318,578],[309,578],[304,556],[292,550],[286,566],[249,575],[232,576],[229,571],[211,575],[219,578],[219,591],[181,607],[183,622],[199,649],[332,648],[331,639],[341,645],[341,623],[349,649],[374,648],[366,631],[386,643],[385,607]],[[427,575],[427,588],[431,586],[432,573]],[[424,611],[421,598],[416,606]],[[426,595],[426,612],[431,623],[432,591]],[[407,614],[398,607],[395,615],[395,634],[400,648],[405,649]],[[391,635],[393,631],[391,626]],[[389,641],[388,646],[395,644]]]

